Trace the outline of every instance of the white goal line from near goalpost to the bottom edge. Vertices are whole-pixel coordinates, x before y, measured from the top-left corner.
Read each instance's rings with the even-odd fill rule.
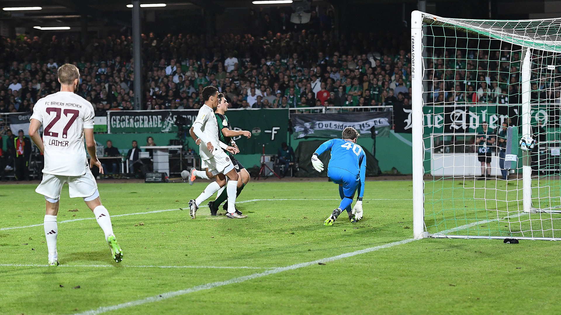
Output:
[[[209,284],[197,285],[197,286],[193,286],[192,288],[188,288],[188,289],[184,289],[184,290],[178,290],[178,291],[171,291],[171,292],[167,292],[167,293],[162,293],[162,294],[155,295],[153,297],[148,297],[148,298],[145,298],[145,299],[140,299],[140,300],[136,300],[136,301],[121,303],[121,304],[112,305],[112,306],[99,307],[97,309],[91,309],[90,311],[86,311],[86,312],[82,312],[82,313],[76,313],[74,315],[97,315],[97,314],[101,314],[101,313],[105,313],[105,312],[109,312],[109,311],[115,311],[115,310],[121,309],[121,308],[127,308],[127,307],[133,307],[133,306],[142,305],[142,304],[146,304],[146,303],[158,302],[160,300],[177,297],[178,295],[185,295],[185,294],[189,294],[189,293],[193,293],[193,292],[201,291],[201,290],[209,290],[209,289],[217,288],[217,287],[223,286],[223,285],[240,283],[240,282],[243,282],[243,281],[247,281],[247,280],[251,280],[251,279],[255,279],[255,278],[259,278],[259,277],[278,274],[279,272],[283,272],[283,271],[295,270],[297,268],[316,265],[319,262],[325,263],[325,262],[329,262],[329,261],[340,260],[342,258],[356,256],[358,254],[364,254],[364,253],[369,253],[369,252],[373,252],[373,251],[378,251],[379,249],[389,248],[389,247],[392,247],[392,246],[413,242],[413,240],[415,240],[415,239],[405,239],[405,240],[400,240],[399,242],[393,242],[393,243],[388,243],[388,244],[384,244],[384,245],[379,245],[379,246],[376,246],[376,247],[361,249],[360,251],[344,253],[344,254],[340,254],[338,256],[323,258],[323,259],[320,259],[320,260],[297,263],[295,265],[291,265],[291,266],[287,266],[287,267],[273,268],[273,269],[269,269],[269,270],[266,270],[264,272],[258,272],[257,274],[252,274],[252,275],[249,275],[249,276],[236,277],[236,278],[226,280],[226,281],[218,281],[218,282],[213,282],[213,283],[209,283]]]

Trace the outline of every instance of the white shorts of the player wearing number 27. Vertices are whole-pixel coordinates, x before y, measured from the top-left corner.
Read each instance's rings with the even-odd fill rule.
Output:
[[[86,174],[81,176],[43,174],[43,180],[35,189],[35,192],[45,197],[59,200],[61,198],[62,185],[65,183],[68,183],[70,198],[90,197],[98,189],[94,175],[88,170]]]

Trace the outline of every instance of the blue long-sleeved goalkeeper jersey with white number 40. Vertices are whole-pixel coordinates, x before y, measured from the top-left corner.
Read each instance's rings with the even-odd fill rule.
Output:
[[[362,147],[351,141],[337,138],[322,143],[314,154],[321,155],[327,150],[331,150],[328,170],[338,168],[355,175],[356,179],[360,179],[361,189],[358,196],[362,197],[366,176],[366,154]]]

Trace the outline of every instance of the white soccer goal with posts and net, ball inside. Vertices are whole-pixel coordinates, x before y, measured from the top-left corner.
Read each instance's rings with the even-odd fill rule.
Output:
[[[411,32],[415,237],[561,239],[561,18]]]

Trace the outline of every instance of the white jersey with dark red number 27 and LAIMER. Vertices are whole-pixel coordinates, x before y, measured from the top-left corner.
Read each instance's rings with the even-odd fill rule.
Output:
[[[84,175],[88,170],[84,128],[94,128],[94,108],[73,92],[56,92],[37,101],[30,119],[43,124],[43,173]]]

